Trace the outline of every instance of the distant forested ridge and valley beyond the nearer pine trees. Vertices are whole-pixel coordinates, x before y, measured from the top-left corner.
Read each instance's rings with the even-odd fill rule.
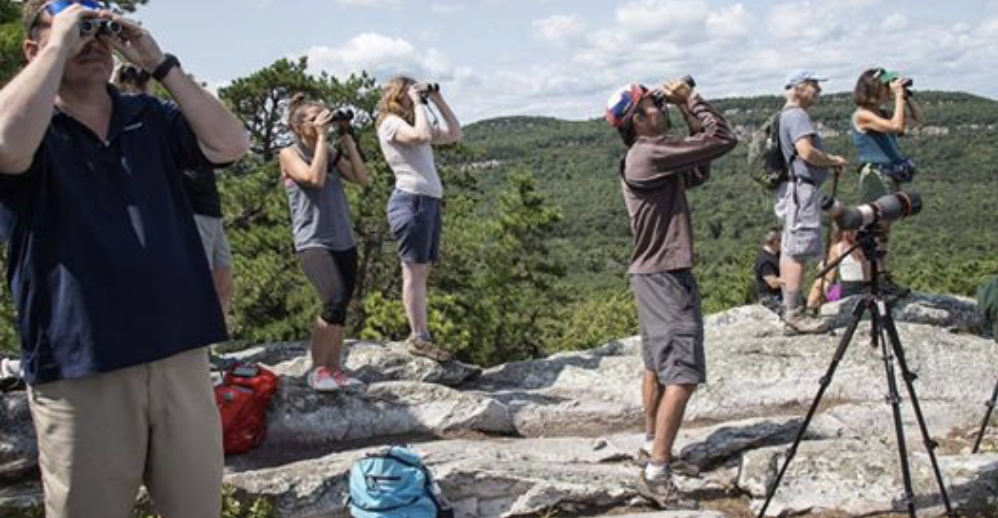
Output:
[[[971,295],[985,275],[998,272],[998,230],[993,223],[998,209],[998,103],[961,93],[917,95],[927,124],[901,145],[920,167],[908,188],[922,195],[925,207],[896,225],[890,268],[914,288]],[[750,269],[759,240],[777,222],[768,194],[746,174],[745,141],[782,100],[738,98],[716,104],[743,142],[715,163],[709,183],[691,192],[696,270],[708,312],[751,299]],[[846,134],[852,110],[849,96],[836,94],[825,96],[813,113],[828,148],[854,159]],[[677,114],[672,119],[681,124]],[[483,183],[494,184],[511,169],[530,169],[551,202],[562,209],[564,222],[554,248],[568,265],[579,308],[568,313],[578,325],[591,325],[594,310],[597,315],[610,307],[629,310],[624,272],[630,232],[617,179],[624,148],[616,133],[602,119],[513,117],[477,123],[467,135],[468,145],[481,151],[474,169]],[[831,182],[825,191],[831,192]],[[854,204],[857,191],[858,174],[852,168],[843,173],[839,197]]]

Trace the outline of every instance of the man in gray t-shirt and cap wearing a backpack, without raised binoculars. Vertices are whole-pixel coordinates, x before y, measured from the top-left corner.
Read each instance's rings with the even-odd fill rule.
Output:
[[[821,184],[829,167],[846,159],[825,153],[821,136],[807,110],[821,94],[814,72],[798,70],[784,83],[787,104],[780,114],[780,146],[790,166],[790,180],[777,189],[776,216],[783,221],[780,277],[783,280],[783,322],[788,333],[824,332],[824,322],[804,313],[801,286],[808,259],[821,257]]]

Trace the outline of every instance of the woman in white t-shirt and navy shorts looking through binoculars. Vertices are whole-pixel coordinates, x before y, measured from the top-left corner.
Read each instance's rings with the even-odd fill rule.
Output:
[[[431,102],[443,117],[442,126],[430,122]],[[433,342],[426,322],[426,281],[440,257],[443,223],[443,186],[432,146],[460,140],[461,125],[437,85],[396,77],[378,102],[377,127],[381,151],[395,174],[388,224],[402,262],[402,304],[411,329],[406,347],[412,354],[446,361],[451,353]]]

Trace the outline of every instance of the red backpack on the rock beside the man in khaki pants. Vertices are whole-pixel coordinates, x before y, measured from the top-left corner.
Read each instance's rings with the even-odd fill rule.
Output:
[[[267,406],[277,392],[277,375],[259,365],[237,364],[215,386],[222,415],[225,453],[245,453],[267,436]]]

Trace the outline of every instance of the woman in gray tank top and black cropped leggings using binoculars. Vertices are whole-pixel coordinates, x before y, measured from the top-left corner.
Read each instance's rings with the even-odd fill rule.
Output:
[[[343,372],[343,326],[357,280],[357,245],[343,182],[367,184],[367,167],[347,131],[324,104],[295,94],[288,106],[294,144],[280,152],[281,179],[291,206],[295,251],[305,277],[322,301],[312,326],[312,369],[307,381],[320,391],[362,383]],[[339,126],[339,146],[329,132]]]

